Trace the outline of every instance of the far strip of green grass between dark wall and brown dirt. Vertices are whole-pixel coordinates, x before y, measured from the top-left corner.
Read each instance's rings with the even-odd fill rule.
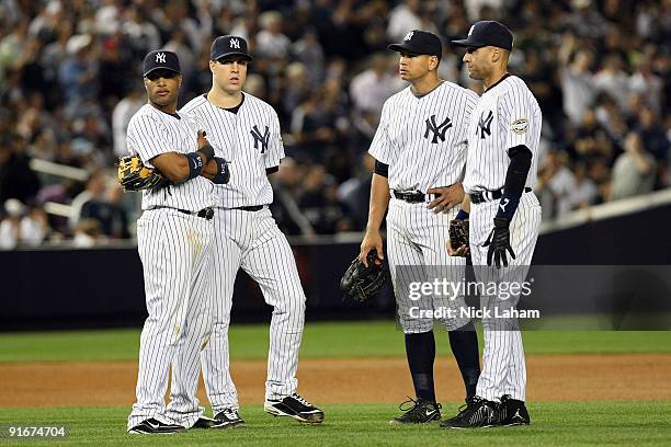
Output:
[[[0,362],[135,360],[137,329],[0,333]],[[447,335],[436,329],[439,351],[450,351]],[[527,331],[527,354],[671,353],[671,331]],[[268,325],[231,326],[231,357],[262,359],[268,353]],[[480,337],[481,340],[481,337]],[[302,358],[402,357],[402,333],[391,321],[312,323],[305,328]]]

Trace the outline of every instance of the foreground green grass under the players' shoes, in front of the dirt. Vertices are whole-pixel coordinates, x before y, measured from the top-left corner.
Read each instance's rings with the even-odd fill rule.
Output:
[[[0,425],[65,425],[68,443],[91,446],[669,446],[671,402],[531,403],[528,427],[447,431],[437,424],[390,426],[389,405],[325,405],[320,426],[272,417],[243,408],[247,427],[166,436],[124,433],[126,408],[0,409]],[[7,433],[7,429],[5,429]],[[7,438],[5,438],[7,439]],[[0,436],[0,444],[3,444]],[[54,442],[7,442],[7,445],[54,445]],[[65,443],[64,443],[65,444]]]

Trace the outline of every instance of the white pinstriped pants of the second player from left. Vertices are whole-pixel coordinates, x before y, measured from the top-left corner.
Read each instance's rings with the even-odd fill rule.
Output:
[[[228,326],[234,283],[239,268],[259,283],[272,306],[265,399],[281,399],[298,387],[298,349],[305,323],[305,293],[294,253],[275,219],[259,211],[217,208],[215,211],[215,325],[203,351],[203,376],[213,412],[238,409],[229,373]]]

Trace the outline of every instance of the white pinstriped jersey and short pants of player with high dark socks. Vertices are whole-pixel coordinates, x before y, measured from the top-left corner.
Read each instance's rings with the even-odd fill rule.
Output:
[[[383,107],[380,124],[371,145],[371,154],[389,165],[391,190],[420,191],[460,182],[466,160],[467,129],[477,94],[443,81],[433,91],[416,96],[407,88],[389,98]],[[443,124],[443,138],[430,123]],[[435,278],[463,279],[465,260],[451,257],[445,249],[450,220],[458,208],[435,215],[427,204],[410,204],[396,198],[387,215],[387,260],[405,333],[422,333],[433,328],[433,319],[411,316],[421,310],[457,308],[463,297],[408,297],[408,285]],[[410,266],[410,267],[409,267]],[[462,268],[459,268],[462,267]],[[467,319],[443,319],[448,330],[458,329]]]

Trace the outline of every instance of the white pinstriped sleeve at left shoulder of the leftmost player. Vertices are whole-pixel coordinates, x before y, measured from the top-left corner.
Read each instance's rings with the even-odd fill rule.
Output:
[[[150,167],[149,160],[156,156],[175,150],[166,139],[168,129],[162,123],[147,115],[136,115],[128,124],[128,150],[137,153],[143,162]]]

